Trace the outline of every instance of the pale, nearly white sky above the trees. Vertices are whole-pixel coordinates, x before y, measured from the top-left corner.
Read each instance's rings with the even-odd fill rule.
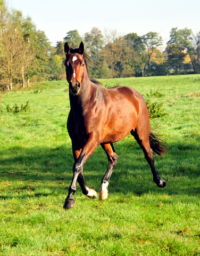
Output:
[[[70,30],[83,36],[92,27],[116,29],[120,35],[149,31],[159,33],[163,47],[169,40],[171,28],[185,27],[194,33],[200,30],[199,0],[7,0],[11,8],[29,15],[38,30],[52,45],[62,41]]]

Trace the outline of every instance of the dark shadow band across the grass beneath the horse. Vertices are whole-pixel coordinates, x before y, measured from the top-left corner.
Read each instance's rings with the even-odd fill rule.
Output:
[[[197,179],[199,177],[198,145],[174,143],[170,145],[164,158],[155,161],[161,178],[167,183],[164,189],[157,187],[153,182],[151,169],[143,151],[134,140],[115,143],[115,150],[119,155],[119,161],[110,179],[109,193],[132,193],[137,196],[149,191],[169,195],[200,194],[199,179]],[[34,188],[28,185],[15,188],[15,191],[20,189],[32,191],[32,195],[23,195],[23,197],[49,196],[56,193],[56,190],[66,194],[72,179],[71,147],[63,145],[53,148],[9,148],[0,151],[0,154],[4,158],[0,160],[2,182],[38,182]],[[106,169],[107,157],[103,149],[98,147],[84,166],[87,186],[98,191]],[[55,186],[48,187],[49,182],[54,182]],[[42,188],[48,188],[49,192],[38,192],[38,189]],[[77,188],[80,192],[80,187]],[[0,196],[0,198],[7,199],[10,196]]]

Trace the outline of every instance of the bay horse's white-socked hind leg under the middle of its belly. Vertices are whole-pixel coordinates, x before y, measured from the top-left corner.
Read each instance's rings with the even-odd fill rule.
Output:
[[[109,180],[111,178],[112,171],[118,161],[118,155],[116,155],[114,147],[112,143],[109,144],[101,144],[102,148],[105,150],[107,155],[107,159],[109,160],[109,166],[107,167],[107,171],[102,179],[102,186],[99,190],[99,200],[104,200],[108,196],[107,187],[109,186]]]

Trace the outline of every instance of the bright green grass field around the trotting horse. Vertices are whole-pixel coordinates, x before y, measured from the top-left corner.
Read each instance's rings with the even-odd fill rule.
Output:
[[[82,195],[63,210],[73,157],[66,130],[65,81],[32,83],[4,92],[0,102],[0,255],[200,255],[200,75],[102,79],[106,87],[159,92],[166,113],[151,119],[168,153],[155,160],[164,189],[155,185],[131,135],[114,144],[119,161],[105,201]],[[152,94],[153,95],[153,94]],[[7,113],[29,100],[30,111]],[[98,147],[84,166],[99,190],[107,157]]]

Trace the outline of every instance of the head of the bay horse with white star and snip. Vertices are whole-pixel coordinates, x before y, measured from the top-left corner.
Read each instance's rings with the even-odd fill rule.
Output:
[[[64,63],[66,79],[69,83],[70,93],[78,95],[81,90],[81,83],[84,80],[84,70],[86,69],[84,44],[81,42],[79,48],[72,49],[68,43],[65,43],[64,52],[66,55]]]

